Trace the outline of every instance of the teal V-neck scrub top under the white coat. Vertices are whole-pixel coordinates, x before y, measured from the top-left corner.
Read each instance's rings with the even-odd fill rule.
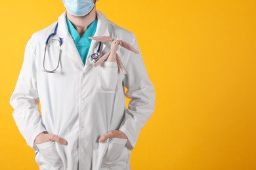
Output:
[[[82,37],[80,37],[79,33],[77,33],[74,25],[70,22],[67,16],[66,16],[66,22],[68,25],[68,32],[72,36],[72,39],[75,42],[77,51],[79,52],[80,57],[83,61],[83,64],[85,65],[87,54],[89,52],[89,48],[92,41],[91,39],[88,39],[88,37],[93,37],[93,35],[95,35],[96,27],[98,24],[98,18],[96,17],[95,20],[89,25],[85,33],[83,33]]]

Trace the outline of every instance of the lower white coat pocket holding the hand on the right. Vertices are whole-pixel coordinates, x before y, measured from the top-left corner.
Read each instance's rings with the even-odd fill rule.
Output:
[[[112,137],[108,143],[108,148],[106,150],[106,154],[104,155],[103,162],[104,163],[112,163],[117,160],[123,150],[125,150],[125,144],[127,143],[127,139]]]

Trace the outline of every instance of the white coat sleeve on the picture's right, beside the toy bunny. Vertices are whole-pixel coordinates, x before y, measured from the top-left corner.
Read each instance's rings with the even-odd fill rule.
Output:
[[[131,45],[139,50],[138,42],[134,34]],[[139,50],[140,51],[140,50]],[[128,52],[125,61],[124,86],[128,89],[125,96],[131,98],[128,109],[125,109],[125,116],[119,126],[127,136],[127,146],[131,150],[137,143],[140,129],[146,124],[155,108],[155,90],[148,77],[141,54]]]

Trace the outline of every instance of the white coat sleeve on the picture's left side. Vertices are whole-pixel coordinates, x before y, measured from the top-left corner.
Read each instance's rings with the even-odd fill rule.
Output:
[[[24,59],[20,74],[9,101],[14,109],[12,116],[18,129],[28,146],[37,150],[34,143],[35,137],[43,131],[47,131],[41,122],[41,114],[38,106],[36,58],[30,44],[26,44]]]

